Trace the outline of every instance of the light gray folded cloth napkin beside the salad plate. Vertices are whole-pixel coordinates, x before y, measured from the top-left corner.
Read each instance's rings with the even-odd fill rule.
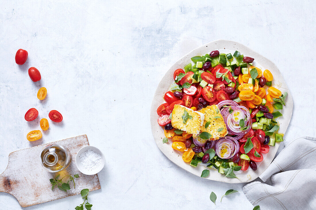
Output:
[[[316,138],[297,138],[286,146],[244,194],[260,209],[316,209]]]

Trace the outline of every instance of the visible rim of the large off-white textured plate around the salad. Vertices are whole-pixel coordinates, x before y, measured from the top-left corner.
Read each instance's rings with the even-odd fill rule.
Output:
[[[293,99],[289,92],[289,88],[287,87],[281,72],[276,67],[276,65],[270,61],[269,59],[265,58],[264,56],[258,54],[257,52],[251,50],[250,48],[246,47],[243,44],[238,42],[228,41],[228,40],[216,40],[205,44],[197,49],[192,50],[177,62],[175,62],[172,67],[167,71],[165,76],[160,81],[157,90],[154,95],[154,99],[151,106],[150,112],[150,123],[151,123],[151,130],[153,136],[155,138],[155,142],[158,148],[161,150],[163,154],[167,156],[169,160],[174,162],[179,167],[183,168],[184,170],[197,175],[201,176],[201,173],[204,169],[209,169],[206,167],[206,164],[199,164],[196,168],[190,166],[188,163],[185,163],[182,160],[182,152],[176,151],[171,148],[171,141],[169,143],[162,143],[162,139],[165,137],[163,128],[158,125],[158,115],[157,115],[157,108],[165,103],[163,96],[169,90],[171,84],[174,82],[173,80],[173,73],[178,68],[184,68],[189,62],[191,62],[191,57],[196,55],[205,55],[206,53],[210,53],[213,50],[219,50],[220,53],[234,53],[235,50],[239,51],[240,54],[244,56],[249,56],[254,58],[254,66],[262,67],[262,70],[269,69],[270,72],[273,74],[273,81],[272,86],[276,87],[277,89],[281,90],[282,93],[288,92],[288,96],[285,100],[285,106],[283,106],[283,110],[279,110],[283,116],[278,117],[277,121],[280,124],[279,133],[285,133],[286,129],[288,128],[289,122],[292,117],[293,111]],[[282,142],[281,142],[282,144]],[[220,182],[227,182],[227,183],[243,183],[243,182],[250,182],[264,172],[264,170],[270,165],[272,162],[276,151],[279,147],[280,143],[276,143],[274,147],[270,146],[270,151],[266,155],[264,155],[264,160],[258,164],[258,169],[253,171],[250,167],[247,171],[239,171],[235,172],[236,176],[240,179],[232,179],[232,178],[225,178],[224,175],[217,172],[217,169],[213,168],[210,169],[210,175],[205,179],[220,181]]]

